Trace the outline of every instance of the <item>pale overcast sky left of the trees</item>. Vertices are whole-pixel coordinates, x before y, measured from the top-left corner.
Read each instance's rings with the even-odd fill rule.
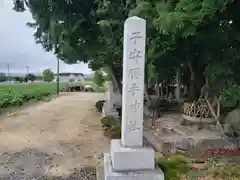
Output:
[[[33,29],[26,26],[32,22],[29,12],[17,13],[12,10],[12,0],[0,0],[0,72],[37,73],[46,68],[56,72],[57,60],[52,53],[45,52],[40,44],[35,44]],[[60,72],[81,72],[88,74],[91,70],[87,64],[67,65],[60,63]]]

